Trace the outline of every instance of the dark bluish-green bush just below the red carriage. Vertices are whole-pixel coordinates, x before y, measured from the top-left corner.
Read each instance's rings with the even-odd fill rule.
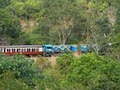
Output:
[[[22,79],[29,86],[34,86],[33,79],[40,74],[33,66],[33,61],[23,56],[0,56],[0,75],[4,72],[12,72],[15,79]],[[1,78],[4,78],[4,76]]]

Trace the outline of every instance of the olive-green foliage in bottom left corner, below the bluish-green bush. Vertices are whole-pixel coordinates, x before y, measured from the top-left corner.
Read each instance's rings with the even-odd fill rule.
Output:
[[[32,90],[23,80],[16,79],[10,71],[1,74],[0,90]]]

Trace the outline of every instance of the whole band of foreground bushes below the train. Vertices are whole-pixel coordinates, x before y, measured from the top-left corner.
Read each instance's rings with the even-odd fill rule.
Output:
[[[7,62],[6,62],[7,61]],[[74,83],[74,84],[73,84]],[[57,65],[39,57],[0,56],[0,88],[15,90],[119,90],[120,62],[109,57],[63,54]]]

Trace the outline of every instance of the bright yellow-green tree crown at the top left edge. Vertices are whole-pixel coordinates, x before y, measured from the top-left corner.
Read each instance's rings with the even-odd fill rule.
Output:
[[[11,4],[6,9],[20,18],[29,20],[39,13],[40,3],[41,1],[38,0],[11,0]]]

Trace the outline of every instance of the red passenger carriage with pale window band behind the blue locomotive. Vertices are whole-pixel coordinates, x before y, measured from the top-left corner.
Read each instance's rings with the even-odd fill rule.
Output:
[[[0,46],[0,53],[3,55],[43,55],[42,45],[11,45]]]

